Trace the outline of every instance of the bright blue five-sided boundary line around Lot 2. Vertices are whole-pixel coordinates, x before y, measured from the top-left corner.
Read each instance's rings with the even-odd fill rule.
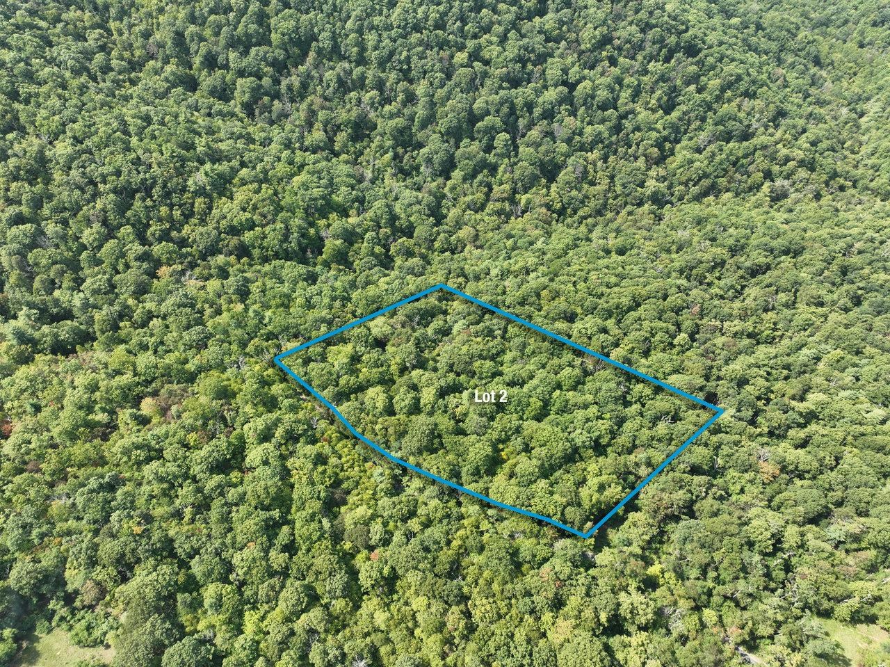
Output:
[[[612,366],[619,368],[620,370],[625,370],[628,373],[630,373],[631,375],[635,375],[637,378],[643,378],[644,380],[648,380],[649,382],[651,382],[654,385],[660,386],[663,389],[667,389],[667,391],[669,391],[669,392],[672,392],[679,396],[683,396],[684,398],[689,399],[693,403],[697,403],[704,408],[708,408],[708,410],[714,411],[715,414],[710,419],[708,419],[708,421],[706,421],[699,428],[699,430],[697,430],[695,433],[693,433],[692,436],[688,440],[686,440],[686,442],[681,444],[676,449],[676,451],[674,451],[674,453],[672,453],[670,456],[667,457],[667,459],[662,461],[658,468],[655,468],[654,470],[652,470],[652,472],[649,474],[649,476],[647,476],[645,479],[643,479],[643,481],[640,484],[637,484],[636,488],[632,492],[627,493],[627,495],[618,503],[618,505],[616,505],[614,508],[611,508],[611,510],[609,510],[609,512],[603,518],[601,518],[598,522],[596,522],[596,524],[594,525],[593,528],[591,528],[587,532],[582,533],[581,531],[578,531],[569,525],[565,525],[562,522],[557,521],[554,518],[544,517],[543,515],[536,514],[535,512],[530,512],[528,509],[517,508],[517,507],[514,507],[513,505],[507,505],[504,502],[498,502],[498,500],[489,498],[488,496],[486,496],[482,493],[475,492],[472,489],[467,489],[465,486],[461,486],[460,484],[451,482],[447,479],[444,479],[443,477],[434,475],[433,473],[431,473],[427,470],[424,470],[423,468],[417,468],[417,466],[409,463],[406,460],[401,460],[399,457],[393,455],[389,451],[384,450],[384,448],[381,447],[380,445],[371,442],[370,440],[368,440],[367,437],[365,437],[364,435],[361,435],[356,430],[356,428],[352,426],[352,424],[349,422],[349,419],[346,419],[340,413],[340,411],[338,411],[336,409],[336,406],[333,403],[328,401],[328,399],[325,398],[324,396],[320,395],[320,393],[318,391],[316,391],[314,387],[312,387],[308,382],[303,380],[303,378],[298,376],[293,370],[290,370],[290,368],[288,368],[287,365],[283,362],[283,360],[286,359],[291,354],[300,352],[301,350],[304,350],[307,347],[313,346],[316,343],[320,343],[322,340],[326,340],[328,338],[331,338],[332,336],[336,336],[339,333],[343,333],[344,331],[352,329],[353,327],[357,327],[360,324],[365,323],[366,321],[373,320],[378,315],[382,315],[384,313],[389,313],[391,310],[398,308],[400,305],[410,304],[413,301],[417,301],[417,299],[419,299],[419,298],[423,298],[429,294],[433,294],[433,292],[437,292],[440,290],[445,291],[445,292],[450,292],[451,294],[453,294],[457,297],[464,298],[465,300],[467,300],[473,304],[481,305],[481,307],[485,308],[486,310],[491,311],[492,313],[498,313],[498,315],[502,315],[502,316],[506,317],[508,320],[513,320],[515,322],[518,322],[519,324],[522,324],[523,326],[528,327],[529,329],[534,329],[535,331],[538,331],[538,333],[544,334],[545,336],[547,336],[549,338],[554,338],[554,340],[558,340],[559,342],[564,343],[567,346],[574,347],[576,350],[579,350],[579,351],[583,352],[584,354],[590,354],[591,356],[594,356],[596,359],[599,359],[603,362],[609,363]],[[692,444],[692,442],[696,438],[698,438],[701,434],[703,434],[706,430],[708,430],[708,427],[710,427],[710,425],[713,424],[717,419],[720,419],[720,416],[723,415],[723,413],[724,413],[723,408],[719,408],[716,405],[708,403],[707,401],[700,399],[698,396],[693,396],[692,394],[687,394],[682,389],[678,389],[676,386],[668,385],[667,382],[662,382],[659,379],[652,378],[651,376],[646,375],[645,373],[640,372],[639,370],[633,369],[630,366],[627,366],[621,362],[616,362],[614,359],[610,359],[609,357],[607,357],[603,354],[599,354],[598,352],[594,352],[593,350],[588,350],[587,347],[580,346],[580,345],[578,345],[578,343],[575,343],[575,342],[569,340],[568,338],[563,338],[559,334],[555,334],[553,331],[548,331],[547,329],[538,327],[538,325],[532,324],[530,321],[523,320],[521,317],[516,317],[516,315],[514,315],[513,313],[507,313],[506,311],[501,310],[500,308],[495,307],[494,305],[486,304],[484,301],[480,301],[477,298],[471,297],[468,294],[465,294],[464,292],[460,291],[459,289],[454,289],[453,287],[449,287],[448,285],[445,285],[442,283],[440,283],[438,285],[433,285],[433,287],[431,287],[431,288],[424,289],[421,292],[417,292],[417,294],[415,294],[411,297],[403,298],[401,301],[397,301],[396,303],[394,303],[392,305],[388,305],[385,308],[381,308],[380,310],[378,310],[374,313],[365,315],[364,317],[361,317],[360,319],[358,319],[356,321],[352,321],[349,324],[344,325],[343,327],[334,329],[333,331],[328,331],[328,333],[324,334],[323,336],[319,336],[318,338],[312,338],[312,340],[307,341],[306,343],[303,343],[302,345],[292,347],[289,350],[282,352],[281,354],[277,354],[275,356],[275,363],[278,364],[279,367],[287,373],[287,375],[289,375],[291,378],[294,378],[296,380],[296,382],[299,383],[299,385],[302,386],[307,392],[309,392],[311,395],[315,396],[315,398],[317,398],[320,401],[320,403],[322,403],[326,408],[328,408],[328,410],[332,411],[336,415],[336,418],[340,419],[340,421],[342,421],[344,423],[344,426],[349,429],[349,432],[352,433],[352,435],[357,437],[362,443],[367,444],[368,447],[370,447],[377,453],[383,455],[384,458],[391,460],[393,463],[398,463],[403,468],[408,468],[409,470],[412,470],[413,472],[416,472],[416,473],[423,475],[425,477],[429,477],[430,479],[432,479],[436,482],[439,482],[440,484],[445,484],[446,486],[449,486],[452,489],[456,489],[459,492],[466,493],[467,495],[471,495],[471,496],[473,496],[473,498],[477,498],[478,500],[484,500],[485,502],[489,503],[490,505],[494,505],[497,508],[509,509],[513,512],[516,512],[517,514],[522,514],[522,516],[524,516],[524,517],[531,517],[531,518],[539,519],[541,521],[545,521],[547,524],[555,525],[557,528],[562,528],[562,530],[564,530],[564,531],[567,531],[569,533],[572,533],[573,535],[577,535],[578,537],[583,537],[583,538],[591,537],[594,533],[596,533],[596,531],[598,531],[603,526],[603,524],[605,524],[609,519],[611,519],[611,517],[613,517],[615,515],[615,513],[618,512],[618,510],[620,508],[624,507],[627,504],[627,502],[629,502],[630,500],[632,500],[635,497],[635,495],[637,493],[641,492],[643,490],[643,487],[646,484],[649,484],[652,481],[652,479],[655,478],[655,476],[657,476],[662,470],[667,468],[667,465],[669,465],[671,461],[675,460],[676,457],[678,457],[680,454],[682,454],[683,451],[690,444]]]

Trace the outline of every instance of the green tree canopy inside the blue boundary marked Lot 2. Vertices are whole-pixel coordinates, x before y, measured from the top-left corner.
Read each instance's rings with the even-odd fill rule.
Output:
[[[285,363],[385,451],[582,533],[716,414],[447,292]]]

